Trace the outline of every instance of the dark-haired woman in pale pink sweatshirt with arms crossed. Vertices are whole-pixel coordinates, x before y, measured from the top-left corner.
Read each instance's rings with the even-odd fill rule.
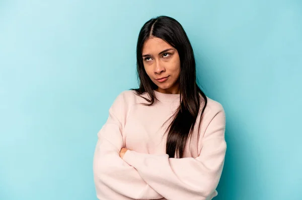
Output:
[[[182,26],[160,16],[137,41],[138,89],[109,109],[94,155],[97,197],[211,199],[223,168],[225,114],[196,84]]]

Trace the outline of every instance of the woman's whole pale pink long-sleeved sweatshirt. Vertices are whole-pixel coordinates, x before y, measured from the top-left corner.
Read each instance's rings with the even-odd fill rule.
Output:
[[[100,200],[169,199],[209,200],[217,195],[226,151],[225,114],[220,103],[207,98],[201,108],[184,158],[169,158],[164,134],[179,106],[179,94],[155,91],[152,106],[134,91],[122,92],[109,109],[98,132],[94,181]],[[142,96],[147,97],[144,93]],[[199,132],[199,137],[197,134]],[[119,152],[129,149],[123,159]]]

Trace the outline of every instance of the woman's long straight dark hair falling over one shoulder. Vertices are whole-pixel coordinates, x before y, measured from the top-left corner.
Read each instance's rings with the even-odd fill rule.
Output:
[[[147,92],[150,99],[143,98],[149,102],[149,104],[145,104],[148,106],[155,102],[156,96],[154,90],[158,88],[158,86],[150,80],[143,66],[142,48],[144,42],[149,37],[158,37],[168,42],[177,49],[180,57],[180,106],[173,115],[174,119],[168,127],[166,153],[170,158],[174,158],[175,156],[177,158],[183,158],[186,143],[192,135],[193,127],[202,104],[200,96],[204,102],[201,116],[207,104],[205,94],[196,83],[193,48],[181,24],[171,17],[159,16],[152,18],[142,26],[136,46],[139,88],[132,90],[135,90],[137,95]]]

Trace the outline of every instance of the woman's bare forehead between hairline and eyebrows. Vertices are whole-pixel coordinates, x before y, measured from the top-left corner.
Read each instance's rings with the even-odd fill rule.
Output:
[[[142,54],[157,54],[168,48],[173,48],[173,46],[161,38],[152,37],[145,41],[142,47]]]

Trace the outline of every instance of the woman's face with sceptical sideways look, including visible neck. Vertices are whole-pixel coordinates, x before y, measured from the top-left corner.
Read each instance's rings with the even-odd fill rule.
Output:
[[[144,43],[142,59],[158,92],[179,94],[180,59],[174,47],[160,38],[151,37]]]

